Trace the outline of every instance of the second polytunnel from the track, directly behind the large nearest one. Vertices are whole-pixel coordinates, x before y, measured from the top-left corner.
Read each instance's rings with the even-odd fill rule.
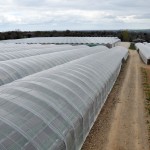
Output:
[[[36,55],[20,59],[0,62],[0,85],[12,82],[42,70],[109,49],[105,46],[95,46],[50,54]]]

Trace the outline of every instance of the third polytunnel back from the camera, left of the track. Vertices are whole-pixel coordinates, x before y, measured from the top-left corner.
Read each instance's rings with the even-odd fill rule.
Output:
[[[16,51],[16,52],[8,52],[8,53],[0,53],[0,61],[10,60],[10,59],[17,59],[41,54],[48,54],[54,52],[61,52],[66,50],[73,50],[79,48],[85,48],[87,46],[71,46],[71,45],[64,45],[60,47],[51,47],[51,48],[43,48],[43,49],[30,49],[24,51]]]

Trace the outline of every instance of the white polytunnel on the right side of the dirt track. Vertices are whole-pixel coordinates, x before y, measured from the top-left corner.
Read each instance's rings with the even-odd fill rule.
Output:
[[[143,62],[145,64],[150,64],[150,47],[144,45],[143,43],[135,44],[136,49],[139,51],[139,55],[141,56]]]

